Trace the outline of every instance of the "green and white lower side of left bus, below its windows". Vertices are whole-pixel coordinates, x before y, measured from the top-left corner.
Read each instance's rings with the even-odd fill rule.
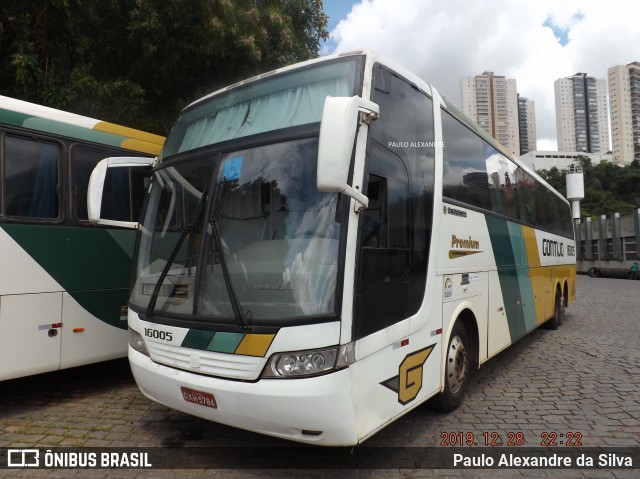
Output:
[[[0,227],[0,295],[6,303],[0,312],[0,379],[126,355],[123,308],[128,298],[134,235],[128,230],[91,227]],[[41,305],[40,298],[54,293],[58,298],[55,307],[50,302]],[[26,298],[27,306],[39,309],[14,307],[18,299],[12,298]],[[49,318],[51,311],[57,311],[56,321]],[[38,329],[45,323],[61,323],[55,336],[47,336],[49,328]],[[14,330],[19,332],[18,341],[11,334]],[[54,343],[55,354],[49,351]],[[40,353],[27,357],[9,354],[16,345]],[[47,359],[36,359],[41,357]]]

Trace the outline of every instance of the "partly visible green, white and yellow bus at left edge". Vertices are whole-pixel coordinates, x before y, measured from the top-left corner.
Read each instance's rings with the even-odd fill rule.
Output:
[[[135,232],[91,223],[87,188],[103,158],[163,141],[0,96],[0,380],[126,356]],[[140,174],[109,175],[104,217],[137,224]]]

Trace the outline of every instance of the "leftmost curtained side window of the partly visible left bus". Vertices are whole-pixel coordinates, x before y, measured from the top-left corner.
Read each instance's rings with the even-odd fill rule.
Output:
[[[4,205],[7,216],[60,217],[60,147],[7,135],[4,139]]]

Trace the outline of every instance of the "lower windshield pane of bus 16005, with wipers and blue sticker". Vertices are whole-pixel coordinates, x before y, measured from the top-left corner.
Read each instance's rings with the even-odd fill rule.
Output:
[[[307,138],[158,170],[132,305],[249,324],[334,315],[338,195],[316,188],[317,149]]]

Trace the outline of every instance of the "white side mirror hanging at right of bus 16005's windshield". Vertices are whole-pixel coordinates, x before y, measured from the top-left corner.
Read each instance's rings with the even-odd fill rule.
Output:
[[[356,132],[361,123],[378,118],[377,104],[359,96],[331,97],[324,102],[318,144],[317,186],[319,191],[343,193],[369,204],[369,198],[347,183]]]

